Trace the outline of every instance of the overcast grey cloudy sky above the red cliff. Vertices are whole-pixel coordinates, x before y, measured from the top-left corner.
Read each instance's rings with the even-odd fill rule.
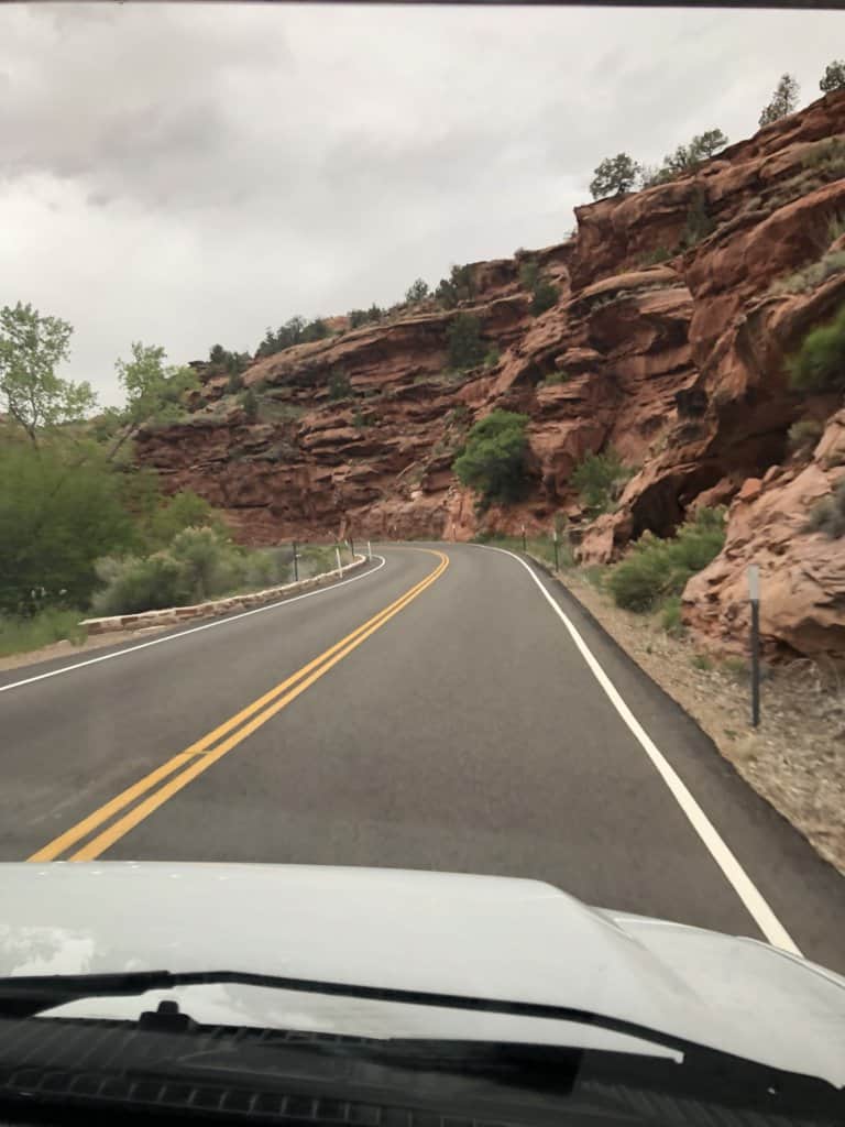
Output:
[[[801,104],[837,12],[0,6],[0,305],[74,327],[117,401],[141,339],[254,350],[559,241],[596,163]]]

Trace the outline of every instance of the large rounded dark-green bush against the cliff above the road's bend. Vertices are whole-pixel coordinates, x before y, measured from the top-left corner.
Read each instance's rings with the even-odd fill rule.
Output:
[[[525,483],[527,415],[495,410],[470,429],[452,464],[459,481],[484,502],[514,500]]]

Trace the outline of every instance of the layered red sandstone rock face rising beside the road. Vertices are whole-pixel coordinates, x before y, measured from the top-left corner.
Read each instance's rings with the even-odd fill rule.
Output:
[[[140,458],[252,542],[348,530],[468,539],[548,529],[564,513],[581,559],[607,562],[643,531],[670,533],[696,507],[736,498],[724,552],[687,591],[690,622],[738,638],[741,571],[767,552],[772,644],[845,650],[845,541],[802,531],[842,462],[840,397],[798,396],[784,374],[784,357],[845,301],[845,91],[695,174],[576,216],[560,246],[473,264],[473,296],[455,309],[429,299],[355,330],[337,318],[326,340],[254,363],[257,417],[226,379],[207,380],[184,423],[141,435]],[[807,270],[826,254],[829,269]],[[559,287],[539,317],[521,283],[528,261]],[[456,373],[448,331],[468,313],[488,357]],[[530,417],[531,488],[480,516],[451,465],[497,407]],[[831,418],[830,449],[812,459],[788,450],[808,415]],[[608,446],[635,472],[590,523],[570,477]]]

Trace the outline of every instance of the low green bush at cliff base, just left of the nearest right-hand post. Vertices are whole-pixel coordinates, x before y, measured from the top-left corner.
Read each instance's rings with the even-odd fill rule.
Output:
[[[668,540],[643,533],[607,580],[614,602],[629,611],[650,611],[668,596],[681,595],[723,544],[722,508],[701,509]]]

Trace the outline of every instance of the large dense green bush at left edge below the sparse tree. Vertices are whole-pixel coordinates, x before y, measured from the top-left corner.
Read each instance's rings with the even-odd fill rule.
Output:
[[[0,611],[84,605],[95,560],[132,541],[121,477],[90,444],[0,447]]]

